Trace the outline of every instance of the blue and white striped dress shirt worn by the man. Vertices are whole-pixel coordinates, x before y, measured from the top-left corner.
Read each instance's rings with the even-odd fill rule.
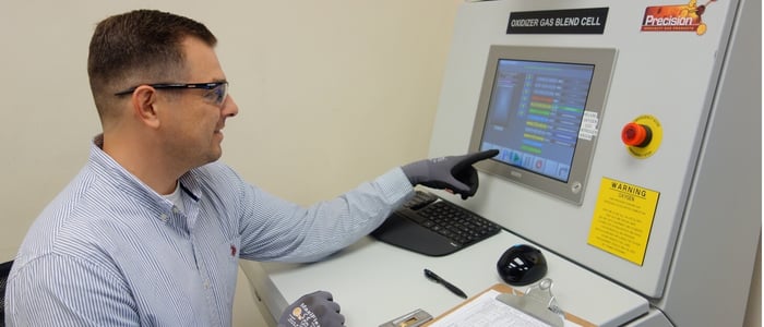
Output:
[[[239,258],[321,259],[413,194],[401,168],[310,207],[220,162],[179,185],[184,211],[93,144],[24,239],[8,280],[8,326],[230,326]]]

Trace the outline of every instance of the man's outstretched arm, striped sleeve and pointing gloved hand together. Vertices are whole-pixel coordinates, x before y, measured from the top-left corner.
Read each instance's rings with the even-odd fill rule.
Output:
[[[367,235],[408,199],[413,185],[447,189],[467,198],[478,187],[473,164],[497,150],[416,161],[360,184],[334,199],[303,208],[238,179],[241,257],[255,261],[314,262]],[[229,206],[230,207],[230,206]]]

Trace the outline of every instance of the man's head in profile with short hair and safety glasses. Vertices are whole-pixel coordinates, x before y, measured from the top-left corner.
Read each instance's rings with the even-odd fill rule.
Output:
[[[171,13],[136,10],[102,21],[87,73],[104,149],[122,165],[181,173],[218,159],[220,129],[238,108],[215,44],[203,24]],[[127,162],[135,156],[155,162]]]

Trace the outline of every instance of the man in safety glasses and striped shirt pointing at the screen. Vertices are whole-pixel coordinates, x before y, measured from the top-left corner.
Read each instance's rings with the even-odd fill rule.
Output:
[[[103,134],[28,231],[8,281],[9,326],[230,326],[237,262],[314,262],[377,228],[413,185],[474,195],[471,164],[422,160],[308,208],[248,184],[220,157],[238,107],[202,24],[139,10],[100,22],[87,70]],[[329,292],[279,326],[341,326]]]

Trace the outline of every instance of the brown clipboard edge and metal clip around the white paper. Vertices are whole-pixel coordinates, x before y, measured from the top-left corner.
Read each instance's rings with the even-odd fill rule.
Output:
[[[503,304],[510,305],[510,306],[516,308],[517,311],[523,312],[523,313],[536,318],[538,322],[542,322],[544,324],[548,324],[549,326],[554,326],[554,324],[545,320],[544,317],[540,317],[538,313],[536,313],[536,314],[530,313],[534,310],[538,310],[539,306],[544,307],[544,305],[541,303],[535,303],[535,304],[532,304],[530,306],[528,306],[528,303],[530,303],[532,301],[520,301],[520,300],[522,300],[522,298],[526,296],[523,292],[517,291],[517,290],[513,289],[512,287],[504,284],[504,283],[497,283],[497,284],[484,290],[479,294],[469,298],[468,300],[464,301],[459,305],[446,311],[445,313],[439,315],[434,319],[428,322],[423,326],[425,327],[432,326],[432,325],[437,326],[439,324],[439,322],[444,322],[444,320],[450,319],[458,314],[465,314],[464,311],[466,310],[466,307],[468,307],[468,304],[474,303],[476,301],[486,301],[487,295],[492,295],[494,293],[499,294],[499,296],[496,296],[497,298],[496,300],[502,302]],[[501,298],[501,300],[499,298]],[[509,300],[509,301],[506,301],[506,300]],[[532,300],[532,299],[524,299],[524,300]],[[533,307],[534,305],[539,305],[539,306],[536,306],[536,308],[534,308]],[[554,314],[551,310],[548,310],[546,307],[545,307],[545,310],[551,314]],[[595,324],[592,324],[590,322],[587,322],[587,320],[585,320],[578,316],[575,316],[571,313],[568,313],[568,312],[561,312],[561,313],[564,316],[564,320],[566,320],[566,322],[570,322],[570,323],[573,323],[575,325],[583,326],[583,327],[596,327]]]

